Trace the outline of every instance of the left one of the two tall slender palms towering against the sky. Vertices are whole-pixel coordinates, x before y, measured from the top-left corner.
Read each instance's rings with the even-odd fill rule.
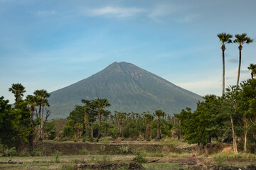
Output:
[[[233,35],[227,33],[220,33],[217,35],[220,39],[221,50],[223,51],[223,94],[225,92],[225,44],[232,43],[230,38],[233,38]]]

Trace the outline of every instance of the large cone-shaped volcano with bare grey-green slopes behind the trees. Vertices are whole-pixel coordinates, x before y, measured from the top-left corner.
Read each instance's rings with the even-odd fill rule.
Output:
[[[114,62],[97,74],[50,93],[50,118],[66,118],[81,99],[107,98],[109,111],[168,114],[196,108],[201,96],[182,89],[134,64]]]

